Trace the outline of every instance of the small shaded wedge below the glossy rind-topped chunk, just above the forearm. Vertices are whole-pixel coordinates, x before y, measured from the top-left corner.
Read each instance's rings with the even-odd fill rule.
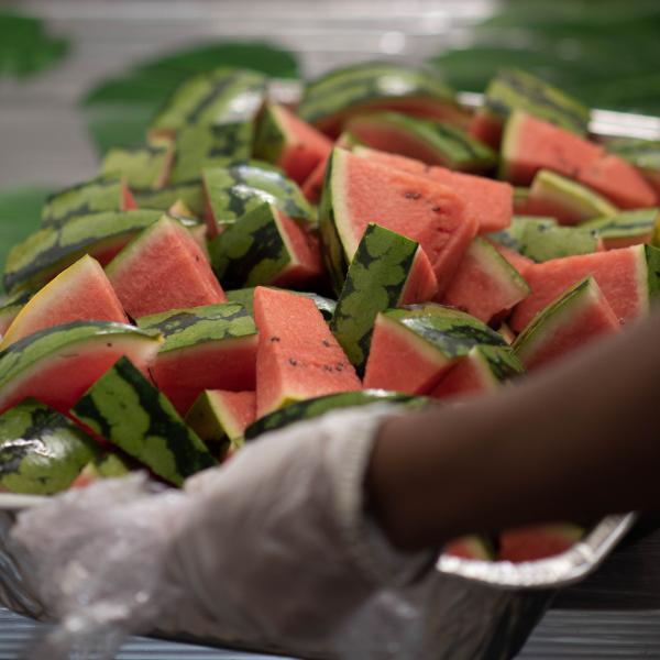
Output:
[[[474,346],[440,381],[429,396],[439,399],[468,398],[495,392],[507,380],[524,372],[509,346]]]

